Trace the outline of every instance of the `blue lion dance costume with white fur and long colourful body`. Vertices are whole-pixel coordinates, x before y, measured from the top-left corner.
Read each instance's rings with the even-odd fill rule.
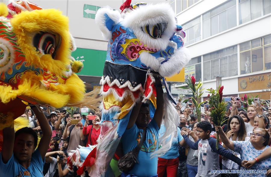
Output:
[[[158,72],[166,85],[164,77],[178,73],[190,60],[188,50],[182,47],[185,33],[177,25],[170,5],[130,3],[127,0],[121,6],[121,14],[111,8],[101,8],[96,13],[96,23],[108,40],[100,81],[103,96],[101,135],[98,145],[85,160],[76,163],[80,161],[80,149],[70,156],[70,166],[76,163],[80,168],[79,175],[83,169],[87,169],[90,176],[109,175],[107,167],[136,102],[150,100],[150,115],[153,117],[156,108],[153,73]],[[176,130],[179,120],[167,96],[164,99],[167,133],[159,138],[158,146],[163,146],[154,154],[163,154],[170,148],[171,142],[166,145],[165,140]]]

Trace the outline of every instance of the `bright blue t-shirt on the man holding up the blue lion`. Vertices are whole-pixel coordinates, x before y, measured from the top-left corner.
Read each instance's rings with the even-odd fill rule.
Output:
[[[156,121],[153,119],[146,128],[146,140],[143,143],[135,166],[129,174],[136,176],[154,176],[157,175],[158,157],[151,158],[151,152],[158,149],[158,132],[159,128]],[[132,151],[140,142],[143,130],[139,129],[136,124],[130,129],[125,130],[122,136],[123,153],[126,154]]]

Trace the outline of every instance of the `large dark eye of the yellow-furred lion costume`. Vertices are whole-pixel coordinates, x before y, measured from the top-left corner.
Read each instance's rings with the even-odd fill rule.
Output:
[[[50,54],[55,59],[55,51],[60,44],[58,35],[48,32],[37,33],[33,38],[33,45],[41,54]]]

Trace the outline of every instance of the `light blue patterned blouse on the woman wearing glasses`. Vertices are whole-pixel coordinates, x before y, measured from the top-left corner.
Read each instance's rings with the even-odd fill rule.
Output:
[[[254,148],[254,146],[251,144],[250,141],[232,141],[234,144],[234,151],[238,152],[241,155],[242,160],[254,160],[254,158],[258,157],[264,150],[269,148],[270,146],[266,146],[263,150],[257,150]],[[242,170],[245,170],[246,168],[241,166]],[[252,167],[249,169],[271,169],[271,158],[269,157],[266,160],[263,160],[261,162],[255,163]],[[260,173],[260,174],[250,174],[250,173],[242,173],[239,174],[241,177],[255,177],[255,176],[261,176],[266,177],[266,174]]]

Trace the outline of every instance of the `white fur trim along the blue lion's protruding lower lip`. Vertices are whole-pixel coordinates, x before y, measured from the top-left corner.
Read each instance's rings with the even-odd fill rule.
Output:
[[[159,74],[163,77],[170,77],[179,72],[191,60],[189,50],[181,47],[173,56],[159,68]]]

